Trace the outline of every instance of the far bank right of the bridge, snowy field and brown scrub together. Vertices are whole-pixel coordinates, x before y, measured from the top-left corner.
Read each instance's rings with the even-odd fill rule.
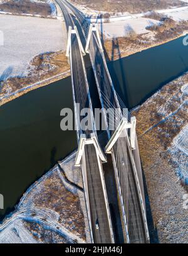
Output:
[[[166,12],[163,10],[162,13],[152,11],[142,16],[128,17],[125,20],[100,23],[98,26],[103,33],[108,59],[116,60],[126,57],[185,35],[188,31],[188,7],[176,11],[179,20],[171,18],[171,14],[167,10]],[[182,19],[180,19],[181,16]]]

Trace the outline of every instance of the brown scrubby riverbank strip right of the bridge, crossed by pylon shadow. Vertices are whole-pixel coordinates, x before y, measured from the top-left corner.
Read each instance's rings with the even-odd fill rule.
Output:
[[[158,18],[159,16],[157,16]],[[170,18],[163,17],[161,19],[163,19],[162,25],[147,28],[150,31],[148,34],[138,35],[132,30],[127,36],[105,40],[104,47],[107,59],[117,60],[127,57],[133,53],[179,38],[184,34],[184,31],[188,31],[188,21],[177,23]]]

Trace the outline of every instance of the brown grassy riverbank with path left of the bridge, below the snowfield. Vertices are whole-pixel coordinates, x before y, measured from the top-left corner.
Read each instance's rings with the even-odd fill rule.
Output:
[[[64,51],[40,54],[31,60],[28,75],[1,81],[0,106],[29,91],[70,76]]]

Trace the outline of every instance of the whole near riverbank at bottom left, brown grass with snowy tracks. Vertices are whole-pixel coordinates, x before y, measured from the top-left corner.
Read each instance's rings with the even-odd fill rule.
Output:
[[[90,242],[75,156],[76,152],[71,153],[29,187],[16,210],[0,225],[1,243]]]

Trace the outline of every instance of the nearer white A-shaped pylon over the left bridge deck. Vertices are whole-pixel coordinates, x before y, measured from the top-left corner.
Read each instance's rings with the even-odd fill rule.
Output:
[[[78,152],[76,154],[75,166],[80,166],[81,158],[83,157],[83,154],[84,154],[85,145],[88,145],[88,144],[94,145],[97,155],[100,157],[103,163],[106,163],[107,159],[98,143],[97,136],[95,135],[95,133],[91,133],[91,138],[88,138],[88,139],[86,139],[86,136],[84,134],[80,136],[80,142],[78,146]]]

